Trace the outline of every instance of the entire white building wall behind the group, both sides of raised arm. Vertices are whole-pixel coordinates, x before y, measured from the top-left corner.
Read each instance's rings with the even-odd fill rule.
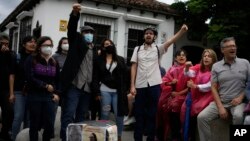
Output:
[[[72,0],[41,0],[33,10],[34,15],[32,19],[32,30],[36,28],[36,23],[39,21],[39,25],[42,26],[41,35],[50,36],[54,43],[53,51],[56,51],[58,41],[61,37],[67,36],[67,32],[59,31],[60,20],[69,20],[69,14],[72,10],[72,5],[76,1]],[[81,3],[83,6],[92,7],[95,9],[109,10],[113,13],[118,13],[116,15],[108,15],[109,18],[114,19],[114,27],[111,39],[117,46],[117,52],[121,56],[127,55],[127,36],[128,36],[128,22],[141,22],[145,25],[156,25],[158,28],[158,39],[157,43],[161,44],[165,39],[162,37],[162,34],[165,34],[166,38],[170,38],[174,34],[174,19],[166,19],[165,15],[158,14],[156,17],[153,16],[151,12],[140,13],[139,10],[132,9],[127,11],[126,8],[118,7],[113,9],[111,5],[100,4],[98,7],[92,1],[83,1]],[[84,11],[84,9],[83,9]],[[119,14],[121,13],[121,15]],[[91,13],[89,13],[91,14]],[[99,16],[102,16],[101,13]],[[83,24],[82,18],[78,24]],[[78,28],[79,30],[79,28]],[[142,37],[143,38],[143,37]],[[168,69],[172,65],[173,57],[173,46],[168,49],[168,52],[162,57],[161,65]]]

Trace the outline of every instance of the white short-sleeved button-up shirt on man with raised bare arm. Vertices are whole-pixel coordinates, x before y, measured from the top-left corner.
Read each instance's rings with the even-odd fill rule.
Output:
[[[144,44],[139,47],[135,47],[131,62],[137,63],[137,72],[135,79],[136,88],[145,88],[154,86],[162,83],[161,73],[159,69],[159,58],[167,52],[167,49],[163,45],[158,46],[153,43],[151,47],[145,48]]]

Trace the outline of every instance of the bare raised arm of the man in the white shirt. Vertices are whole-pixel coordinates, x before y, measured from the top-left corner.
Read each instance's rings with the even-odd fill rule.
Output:
[[[181,29],[173,37],[163,43],[164,48],[168,49],[170,45],[176,42],[187,30],[187,25],[183,24]]]

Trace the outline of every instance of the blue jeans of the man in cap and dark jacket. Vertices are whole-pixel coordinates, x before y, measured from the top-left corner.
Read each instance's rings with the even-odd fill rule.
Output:
[[[62,141],[66,141],[68,124],[84,121],[84,115],[89,108],[89,101],[90,94],[74,86],[63,97],[60,131]]]

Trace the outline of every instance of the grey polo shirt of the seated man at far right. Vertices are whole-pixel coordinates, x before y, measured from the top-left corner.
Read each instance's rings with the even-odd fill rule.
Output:
[[[218,93],[224,106],[245,90],[249,74],[250,65],[246,59],[235,58],[233,64],[223,59],[213,65],[211,81],[218,83]]]

